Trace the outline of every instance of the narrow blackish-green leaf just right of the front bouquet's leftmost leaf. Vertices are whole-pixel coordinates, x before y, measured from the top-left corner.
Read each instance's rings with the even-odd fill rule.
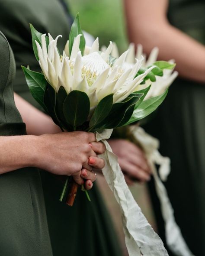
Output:
[[[47,83],[47,87],[45,89],[44,103],[45,103],[45,106],[48,109],[48,113],[52,117],[54,123],[56,123],[58,126],[60,126],[62,128],[62,125],[55,113],[56,92],[55,92],[54,88],[48,83]]]

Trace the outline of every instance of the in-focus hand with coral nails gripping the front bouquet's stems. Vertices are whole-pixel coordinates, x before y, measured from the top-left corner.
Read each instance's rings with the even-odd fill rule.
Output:
[[[92,188],[96,179],[92,167],[102,169],[105,165],[97,157],[105,152],[105,146],[95,142],[93,133],[64,132],[35,137],[33,166],[57,175],[72,175],[78,184],[86,179],[86,189]]]

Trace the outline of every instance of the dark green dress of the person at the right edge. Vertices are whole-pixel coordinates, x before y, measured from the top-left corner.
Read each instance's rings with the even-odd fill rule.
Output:
[[[202,44],[204,13],[204,0],[170,0],[170,23]],[[177,78],[144,128],[160,140],[160,153],[171,159],[165,186],[183,237],[195,256],[205,255],[205,84]],[[165,243],[153,181],[149,188],[159,235]]]

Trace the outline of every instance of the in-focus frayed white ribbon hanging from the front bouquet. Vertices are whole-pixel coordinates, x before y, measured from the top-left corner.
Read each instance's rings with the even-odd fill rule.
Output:
[[[162,240],[142,214],[125,182],[117,156],[106,141],[111,134],[112,130],[104,130],[96,133],[96,139],[106,146],[106,152],[100,156],[106,163],[102,173],[120,206],[129,256],[168,256]]]

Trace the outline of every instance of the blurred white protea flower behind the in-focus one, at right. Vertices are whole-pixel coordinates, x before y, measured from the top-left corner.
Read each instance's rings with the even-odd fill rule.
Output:
[[[102,47],[102,52],[106,51],[106,47]],[[154,47],[149,55],[149,57],[146,59],[146,55],[143,53],[143,48],[142,45],[138,44],[137,45],[137,52],[135,54],[135,44],[131,43],[128,47],[128,55],[125,59],[124,65],[122,68],[124,70],[127,70],[128,68],[132,68],[135,65],[135,59],[140,59],[141,56],[143,56],[142,62],[141,62],[141,67],[142,68],[147,68],[150,65],[153,65],[154,62],[157,61],[157,56],[159,53],[159,49],[157,47]],[[117,45],[115,42],[113,42],[113,47],[112,47],[112,52],[111,55],[115,58],[119,58],[119,51],[117,48]],[[173,60],[169,61],[170,63],[174,63]],[[167,87],[169,87],[174,79],[177,77],[178,72],[173,71],[173,69],[164,69],[163,70],[163,76],[156,76],[156,81],[151,82],[149,79],[146,80],[145,84],[141,84],[140,87],[138,87],[138,90],[146,88],[148,85],[151,84],[151,88],[148,91],[145,99],[158,96],[162,94]]]

